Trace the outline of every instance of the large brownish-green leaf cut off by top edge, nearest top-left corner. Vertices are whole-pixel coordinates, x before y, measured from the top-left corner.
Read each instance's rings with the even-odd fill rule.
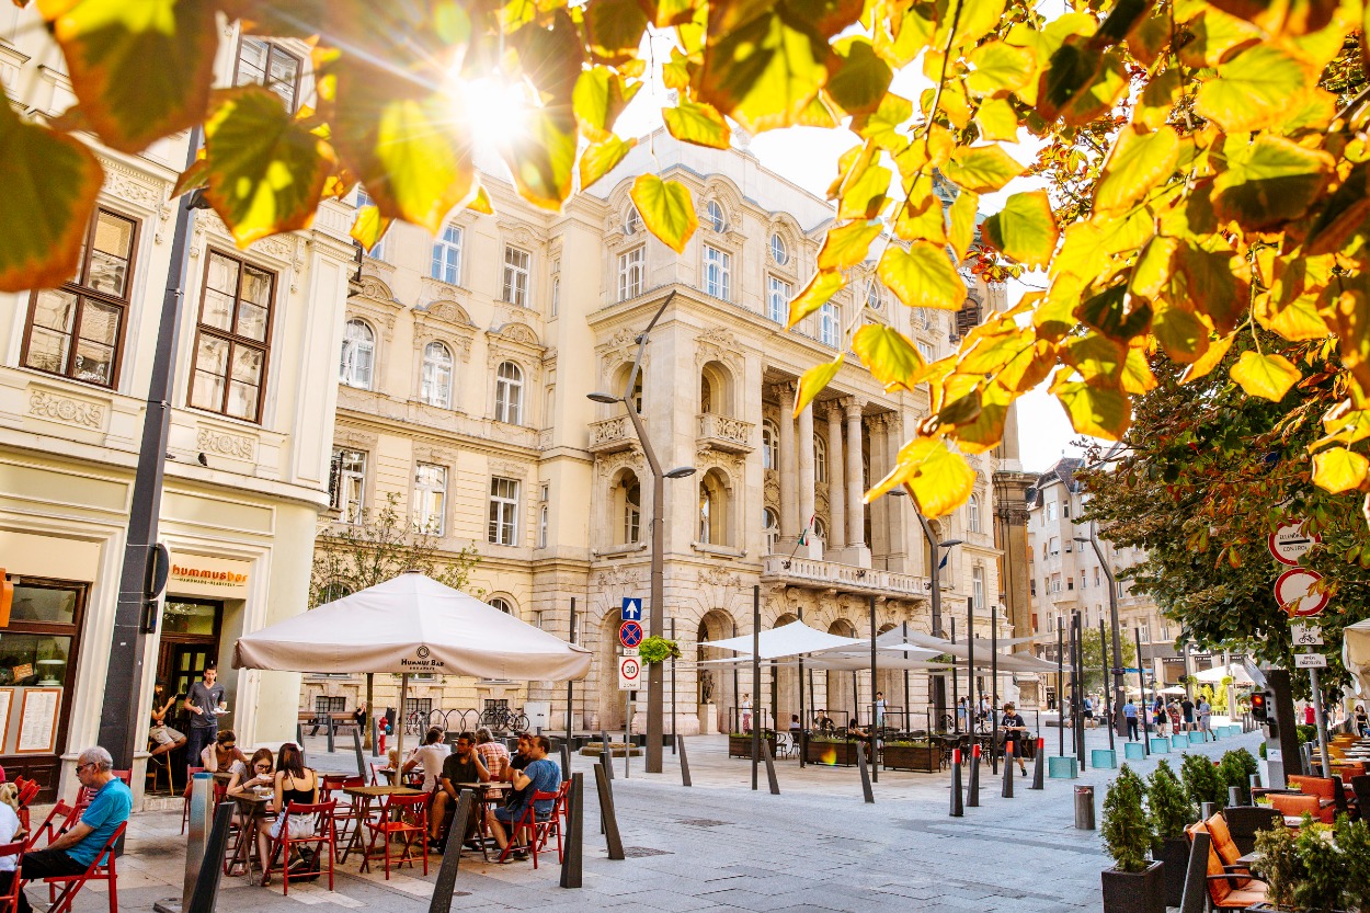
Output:
[[[219,27],[201,0],[41,0],[71,88],[100,140],[121,152],[204,118]]]

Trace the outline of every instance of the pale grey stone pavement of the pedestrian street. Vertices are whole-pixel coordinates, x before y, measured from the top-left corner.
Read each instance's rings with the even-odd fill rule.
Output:
[[[1047,735],[1047,751],[1055,754],[1056,733]],[[1255,751],[1258,739],[1258,733],[1236,736],[1191,751],[1211,757],[1238,746]],[[322,742],[307,739],[308,748],[318,748],[311,764],[323,770],[355,768],[355,755],[327,755]],[[725,739],[686,742],[693,788],[680,786],[670,751],[666,772],[655,776],[644,775],[643,759],[633,758],[625,779],[619,759],[614,796],[626,861],[606,857],[590,759],[577,757],[573,768],[586,775],[584,887],[558,886],[555,851],[541,857],[537,872],[530,862],[489,865],[464,857],[453,909],[1045,913],[1100,906],[1099,871],[1108,862],[1099,833],[1074,828],[1073,787],[1096,786],[1097,809],[1114,770],[1048,780],[1044,791],[1030,791],[1030,780],[1015,779],[1015,798],[1004,799],[1001,777],[986,766],[980,807],[952,818],[945,772],[881,772],[875,803],[866,805],[855,768],[800,770],[797,761],[786,759],[777,762],[777,796],[767,791],[764,770],[760,790],[751,791],[751,764],[727,758]],[[1107,732],[1089,732],[1088,744],[1107,747]],[[1178,753],[1169,757],[1178,764]],[[1134,762],[1143,775],[1154,766],[1155,757]],[[129,851],[119,864],[125,910],[151,910],[153,902],[179,895],[185,840],[175,805],[140,813],[132,823]],[[219,910],[288,913],[303,903],[422,913],[437,864],[432,857],[426,877],[422,869],[406,868],[386,881],[382,873],[358,875],[353,858],[338,869],[334,891],[321,879],[292,886],[289,897],[282,897],[279,884],[260,888],[242,877],[223,879]],[[30,888],[34,899],[38,894]],[[107,909],[96,887],[77,903],[78,913]]]

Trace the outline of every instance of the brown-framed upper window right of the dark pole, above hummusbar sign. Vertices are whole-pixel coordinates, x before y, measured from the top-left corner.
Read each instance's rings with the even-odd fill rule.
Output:
[[[200,291],[189,404],[260,421],[275,276],[210,251]]]

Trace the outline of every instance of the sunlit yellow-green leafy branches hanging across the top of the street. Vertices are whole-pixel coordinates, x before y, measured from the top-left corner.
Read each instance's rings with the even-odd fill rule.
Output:
[[[1336,393],[1314,417],[1312,480],[1370,488],[1362,0],[1069,0],[1049,18],[1025,0],[34,1],[78,101],[53,122],[0,107],[0,291],[70,276],[100,186],[82,133],[137,152],[203,123],[179,189],[203,189],[242,245],[307,226],[360,182],[375,206],[353,234],[370,247],[390,219],[436,230],[453,208],[490,210],[467,114],[492,81],[529,99],[526,141],[504,148],[514,184],[558,210],[622,160],[634,140],[615,121],[659,78],[677,90],[666,127],[688,143],[726,147],[729,119],[858,136],[834,162],[837,221],[790,325],[864,260],[910,307],[960,308],[967,256],[991,281],[1036,287],[933,363],[880,315],[854,315],[873,374],[932,398],[869,498],[904,485],[947,513],[971,492],[962,454],[997,444],[1026,391],[1049,380],[1075,430],[1118,439],[1159,382],[1151,352],[1196,382],[1244,337],[1269,341],[1225,374],[1293,406],[1295,355],[1325,345]],[[312,42],[314,104],[212,89],[221,16]],[[906,69],[932,85],[893,92]],[[1037,149],[1028,167],[1019,143]],[[958,189],[949,207],[936,174]],[[1015,189],[977,229],[980,196]],[[688,189],[641,174],[632,196],[684,249]],[[804,374],[796,410],[843,358]]]

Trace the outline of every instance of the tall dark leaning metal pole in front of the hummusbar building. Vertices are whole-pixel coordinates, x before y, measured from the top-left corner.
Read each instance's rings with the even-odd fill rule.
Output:
[[[186,167],[195,165],[200,151],[200,127],[190,130],[186,143]],[[115,769],[133,768],[134,754],[142,748],[140,702],[142,692],[142,658],[147,635],[158,629],[158,594],[151,592],[158,568],[158,520],[162,514],[162,477],[166,467],[167,435],[171,422],[171,382],[181,336],[181,299],[190,266],[186,239],[190,236],[195,195],[181,197],[171,234],[170,267],[162,313],[158,321],[148,400],[142,414],[142,440],[138,467],[133,477],[129,526],[123,544],[123,568],[119,573],[119,599],[110,635],[108,665],[104,677],[104,701],[100,705],[100,740],[114,755]],[[170,570],[167,568],[166,570]],[[147,736],[142,736],[147,739]]]

